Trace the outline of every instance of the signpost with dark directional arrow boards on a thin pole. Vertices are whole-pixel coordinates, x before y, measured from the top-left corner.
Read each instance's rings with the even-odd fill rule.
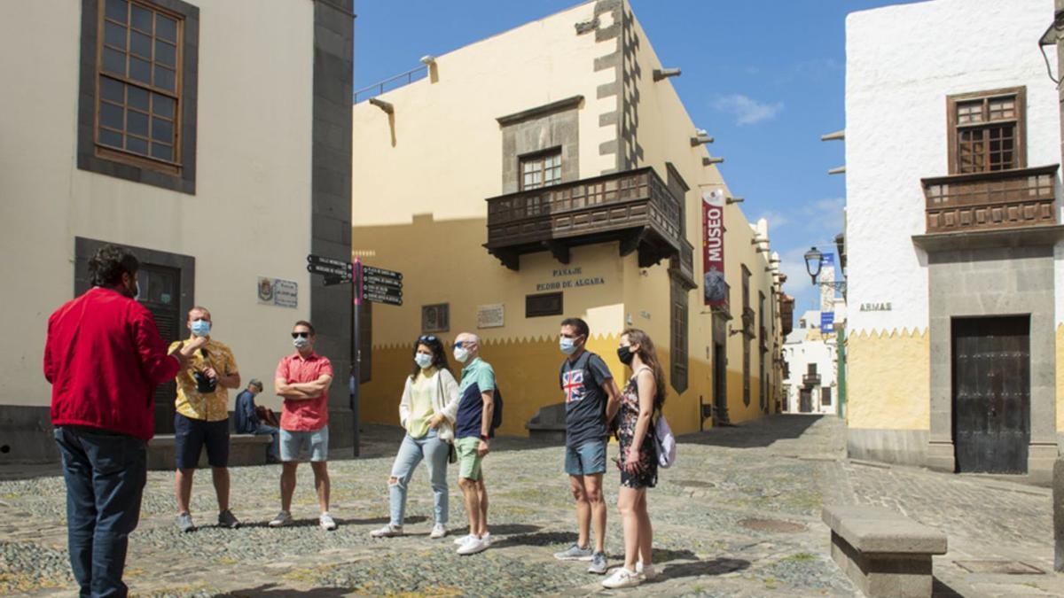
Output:
[[[362,380],[359,366],[362,363],[362,343],[360,343],[362,326],[359,321],[362,310],[360,305],[362,305],[363,300],[386,305],[402,305],[402,273],[363,266],[362,260],[358,258],[354,259],[354,263],[351,263],[314,253],[306,256],[306,271],[323,276],[325,286],[351,284],[354,296],[351,317],[351,366],[355,380],[354,393],[351,395],[351,412],[354,416],[354,456],[359,456],[359,385]]]

